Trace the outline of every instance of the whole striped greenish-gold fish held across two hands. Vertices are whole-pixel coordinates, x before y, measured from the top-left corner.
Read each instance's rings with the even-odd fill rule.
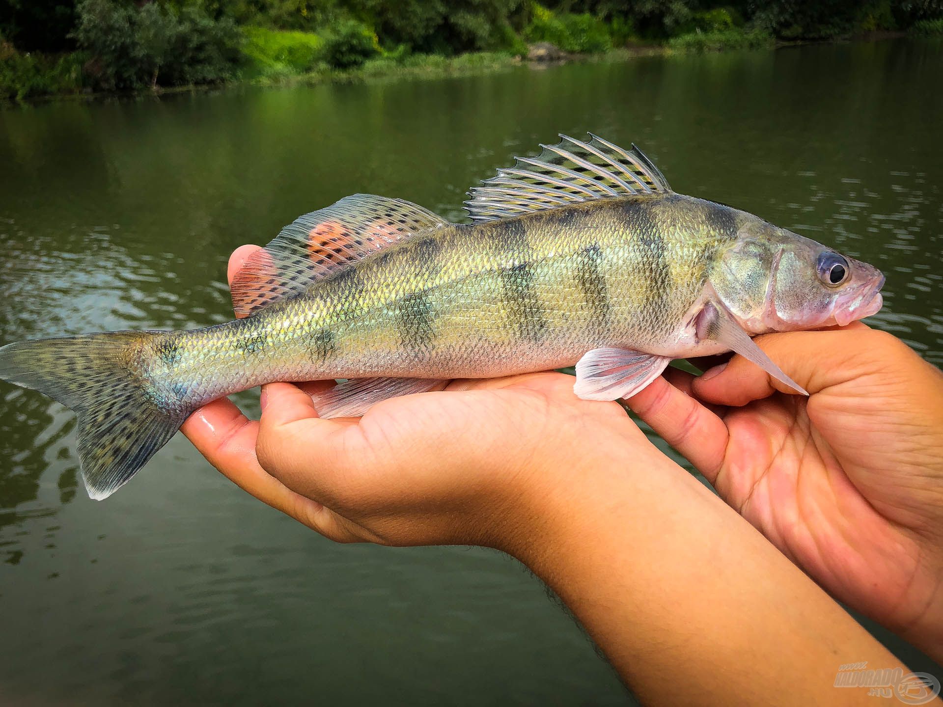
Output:
[[[736,352],[805,393],[753,341],[882,306],[884,275],[758,216],[674,192],[635,144],[561,135],[469,192],[468,222],[356,194],[301,216],[232,282],[237,319],[10,343],[0,379],[77,414],[108,498],[201,405],[335,380],[323,418],[575,364],[574,393],[629,398],[671,360]],[[449,393],[436,393],[449,394]]]

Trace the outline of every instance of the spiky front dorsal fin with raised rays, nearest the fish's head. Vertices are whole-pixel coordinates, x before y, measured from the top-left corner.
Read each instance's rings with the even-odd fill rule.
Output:
[[[536,157],[515,157],[514,167],[469,192],[472,221],[494,221],[591,199],[670,191],[668,180],[634,144],[625,151],[589,133],[583,142],[561,135]]]

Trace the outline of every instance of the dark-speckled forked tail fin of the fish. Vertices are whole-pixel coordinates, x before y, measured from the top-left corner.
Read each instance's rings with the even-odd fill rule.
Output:
[[[78,415],[78,456],[89,496],[108,498],[174,436],[190,410],[158,403],[141,354],[163,332],[106,332],[0,348],[0,379],[39,390]]]

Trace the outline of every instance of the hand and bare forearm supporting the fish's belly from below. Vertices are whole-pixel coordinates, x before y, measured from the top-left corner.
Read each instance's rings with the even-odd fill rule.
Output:
[[[221,400],[183,430],[236,484],[334,540],[517,557],[646,703],[852,703],[832,695],[830,658],[892,665],[619,404],[582,401],[572,384],[552,372],[455,381],[359,419],[318,418],[308,393],[331,382],[270,384],[259,421]],[[746,654],[756,665],[732,677]],[[666,696],[678,665],[686,681]]]

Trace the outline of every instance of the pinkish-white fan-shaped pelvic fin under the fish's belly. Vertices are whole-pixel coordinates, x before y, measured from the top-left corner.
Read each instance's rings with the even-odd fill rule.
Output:
[[[631,349],[593,349],[576,364],[573,392],[583,400],[631,398],[648,386],[671,359]]]

